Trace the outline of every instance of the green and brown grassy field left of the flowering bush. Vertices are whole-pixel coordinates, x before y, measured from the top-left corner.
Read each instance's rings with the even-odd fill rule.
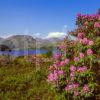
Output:
[[[40,69],[18,58],[0,67],[0,100],[53,100],[46,82],[47,66],[44,62]]]

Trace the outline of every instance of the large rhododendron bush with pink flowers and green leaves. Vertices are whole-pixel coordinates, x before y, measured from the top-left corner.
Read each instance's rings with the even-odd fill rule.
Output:
[[[60,52],[53,56],[47,79],[67,100],[95,98],[100,92],[95,72],[100,67],[100,13],[78,14],[76,25],[69,33],[76,39],[64,39]]]

